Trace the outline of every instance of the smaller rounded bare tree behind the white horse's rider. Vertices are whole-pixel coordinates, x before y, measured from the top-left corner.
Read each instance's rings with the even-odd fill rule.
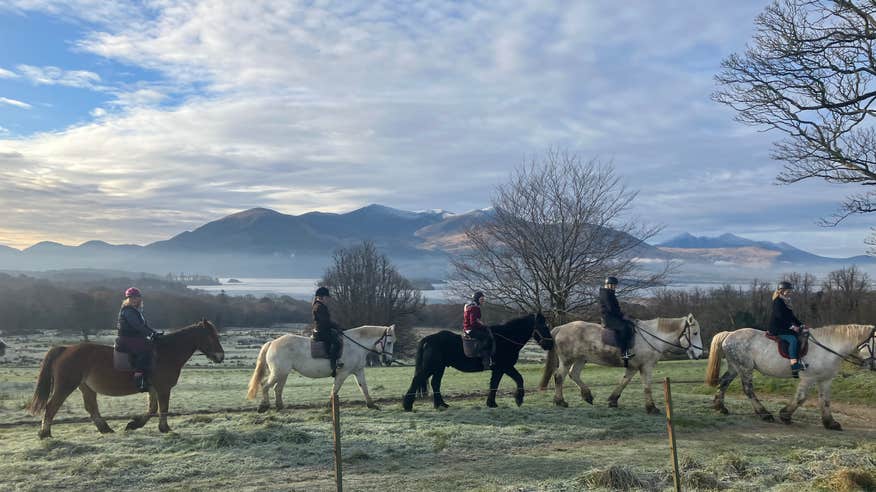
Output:
[[[370,241],[336,251],[321,283],[331,290],[334,317],[345,328],[405,324],[425,304],[419,289]]]

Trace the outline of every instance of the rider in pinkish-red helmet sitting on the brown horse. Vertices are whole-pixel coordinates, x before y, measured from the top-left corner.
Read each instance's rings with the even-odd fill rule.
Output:
[[[143,317],[143,297],[140,290],[131,287],[125,291],[125,300],[119,311],[118,336],[125,351],[131,355],[134,382],[140,391],[149,391],[149,372],[152,369],[152,344],[161,335],[149,327]]]

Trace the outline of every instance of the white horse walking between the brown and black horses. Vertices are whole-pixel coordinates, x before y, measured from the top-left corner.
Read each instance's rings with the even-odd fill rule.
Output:
[[[338,394],[344,381],[353,374],[356,376],[362,395],[365,396],[368,408],[377,409],[365,383],[365,360],[368,354],[376,352],[383,356],[384,363],[388,364],[392,361],[395,325],[360,326],[343,332],[342,339],[344,352],[340,361],[344,363],[344,367],[339,367],[335,373],[332,395]],[[248,399],[253,400],[258,395],[259,388],[262,389],[259,412],[264,412],[270,407],[268,391],[271,388],[274,388],[276,393],[277,409],[283,408],[283,386],[293,369],[308,378],[327,378],[332,374],[328,359],[314,359],[310,356],[309,337],[283,335],[267,342],[262,345],[262,350],[259,352],[258,362],[249,382],[249,392],[246,395]],[[265,377],[266,370],[267,377]]]

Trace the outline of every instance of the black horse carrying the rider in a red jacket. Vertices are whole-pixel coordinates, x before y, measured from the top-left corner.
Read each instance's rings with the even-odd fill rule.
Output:
[[[523,376],[514,368],[520,356],[520,349],[526,345],[530,338],[544,350],[550,350],[554,346],[551,338],[551,329],[541,313],[527,314],[526,316],[513,319],[504,325],[491,326],[493,338],[496,341],[496,352],[493,355],[492,376],[490,377],[490,393],[487,396],[487,406],[495,407],[496,390],[499,381],[507,374],[517,383],[517,394],[514,401],[520,406],[523,404]],[[432,398],[435,408],[447,408],[447,403],[441,397],[441,378],[444,377],[444,369],[452,366],[462,372],[479,372],[485,367],[480,357],[466,357],[462,351],[462,336],[444,330],[434,335],[429,335],[420,340],[417,347],[417,366],[411,387],[404,396],[403,405],[407,412],[414,407],[414,398],[424,397],[429,394],[426,384],[432,378]]]

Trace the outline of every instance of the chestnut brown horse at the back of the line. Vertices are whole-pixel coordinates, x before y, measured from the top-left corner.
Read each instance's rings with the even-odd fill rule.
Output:
[[[155,360],[149,389],[149,409],[145,415],[128,422],[125,430],[139,429],[158,410],[158,430],[169,432],[167,410],[170,390],[179,380],[182,366],[196,351],[201,351],[213,362],[225,358],[216,327],[206,319],[158,338],[155,342]],[[37,377],[36,391],[28,405],[32,415],[44,412],[39,437],[52,436],[55,414],[76,388],[82,392],[85,410],[102,434],[113,432],[100,416],[97,395],[126,396],[138,393],[131,371],[113,368],[113,348],[95,343],[52,347],[46,352]],[[51,396],[51,397],[50,397]]]

